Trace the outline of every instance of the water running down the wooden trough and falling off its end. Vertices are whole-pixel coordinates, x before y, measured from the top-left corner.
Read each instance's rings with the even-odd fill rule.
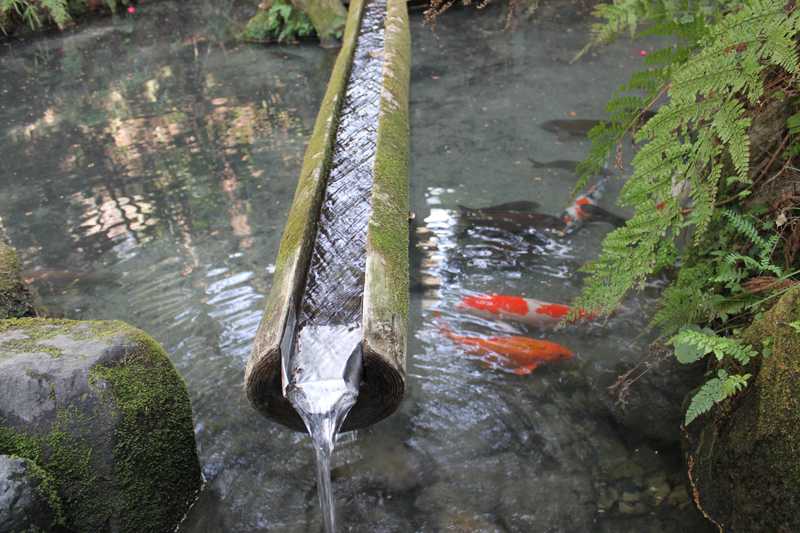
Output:
[[[385,16],[385,0],[366,3],[295,339],[283,358],[283,394],[300,414],[314,444],[317,493],[327,533],[335,531],[331,454],[361,382],[361,301]]]

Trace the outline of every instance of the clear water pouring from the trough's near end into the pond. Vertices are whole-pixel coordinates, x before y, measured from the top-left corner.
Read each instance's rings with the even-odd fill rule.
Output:
[[[336,433],[358,399],[361,368],[361,328],[353,326],[300,328],[292,355],[283,362],[283,395],[314,445],[326,533],[336,530],[331,455]]]

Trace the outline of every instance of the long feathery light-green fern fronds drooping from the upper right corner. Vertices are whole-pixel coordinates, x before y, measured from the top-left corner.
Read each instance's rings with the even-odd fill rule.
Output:
[[[644,3],[636,0],[636,5]],[[665,3],[654,4],[654,11],[647,12],[656,18],[674,18],[679,12]],[[622,20],[617,19],[615,31],[623,26]],[[680,256],[675,243],[687,229],[693,232],[695,246],[703,241],[718,216],[721,187],[750,181],[747,106],[763,95],[770,69],[798,75],[793,43],[800,17],[794,7],[785,8],[778,0],[750,0],[716,22],[709,20],[714,19],[702,18],[696,44],[687,45],[694,54],[678,54],[678,63],[653,71],[650,82],[647,76],[633,80],[651,89],[648,102],[659,97],[653,94],[655,80],[663,80],[661,92],[667,102],[633,135],[641,148],[633,158],[633,175],[622,188],[620,203],[636,212],[625,227],[606,237],[600,257],[586,267],[590,276],[576,303],[580,307],[615,309],[630,289],[640,287]],[[610,108],[618,109],[619,116],[590,132],[593,146],[579,167],[581,172],[596,171],[615,153],[630,129],[624,121],[632,122],[632,117],[641,114],[636,102],[620,97],[612,102]],[[745,235],[754,238],[753,232]],[[760,251],[758,268],[775,272],[768,260],[774,246],[754,242]],[[755,265],[746,266],[755,269]]]

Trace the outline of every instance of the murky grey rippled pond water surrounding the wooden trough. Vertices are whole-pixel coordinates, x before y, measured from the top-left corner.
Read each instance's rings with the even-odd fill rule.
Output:
[[[335,51],[237,44],[252,4],[158,2],[132,17],[0,44],[0,217],[51,314],[120,319],[185,377],[207,484],[186,533],[319,531],[307,436],[260,417],[242,374]],[[605,328],[467,318],[465,294],[564,302],[609,227],[565,239],[491,234],[458,206],[521,199],[558,214],[586,141],[542,126],[602,116],[640,62],[620,42],[580,62],[590,6],[412,16],[412,205],[426,240],[399,412],[342,435],[333,486],[346,531],[707,531],[678,451],[611,421],[605,387],[641,357],[652,294]],[[563,165],[561,165],[563,166]],[[567,165],[568,166],[568,165]],[[613,205],[612,182],[603,205]],[[650,292],[653,292],[652,290]],[[517,376],[442,334],[523,334],[576,357]]]

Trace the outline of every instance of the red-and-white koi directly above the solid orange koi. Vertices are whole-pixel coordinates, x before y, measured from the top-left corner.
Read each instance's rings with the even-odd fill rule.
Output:
[[[505,294],[465,296],[456,308],[486,318],[514,320],[536,327],[555,326],[567,318],[571,311],[568,305]],[[578,318],[593,317],[594,314],[589,311],[578,310]]]

